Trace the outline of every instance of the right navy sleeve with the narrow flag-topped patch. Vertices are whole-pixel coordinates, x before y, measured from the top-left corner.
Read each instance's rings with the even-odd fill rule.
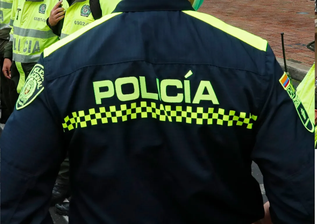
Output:
[[[314,223],[314,125],[269,46],[261,78],[263,107],[252,159],[263,174],[272,221]]]

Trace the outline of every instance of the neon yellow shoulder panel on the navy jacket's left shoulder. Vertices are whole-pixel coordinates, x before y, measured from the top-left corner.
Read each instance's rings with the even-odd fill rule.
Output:
[[[72,40],[76,39],[77,37],[81,36],[82,34],[86,33],[87,31],[91,30],[92,28],[100,25],[101,23],[111,19],[114,16],[117,16],[121,14],[122,12],[112,13],[108,14],[106,16],[101,17],[100,19],[97,19],[96,21],[88,24],[87,26],[84,26],[80,30],[77,30],[76,32],[72,33],[69,36],[66,36],[65,38],[57,41],[56,43],[52,44],[48,48],[44,49],[43,55],[44,57],[49,56],[52,54],[55,50],[61,48],[62,46],[66,45],[67,43],[71,42]]]

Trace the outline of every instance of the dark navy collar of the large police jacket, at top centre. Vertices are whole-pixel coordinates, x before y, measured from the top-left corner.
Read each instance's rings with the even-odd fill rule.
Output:
[[[188,0],[122,0],[113,12],[194,10]]]

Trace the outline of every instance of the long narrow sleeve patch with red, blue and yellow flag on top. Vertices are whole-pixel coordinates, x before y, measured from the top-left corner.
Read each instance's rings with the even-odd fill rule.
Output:
[[[280,81],[282,87],[287,91],[288,96],[291,97],[291,99],[293,100],[295,108],[297,110],[297,114],[299,115],[301,122],[303,123],[305,128],[310,132],[314,132],[314,124],[309,119],[307,111],[306,111],[304,105],[301,103],[300,97],[297,95],[297,92],[295,91],[292,83],[290,82],[290,80],[285,72],[279,81]]]

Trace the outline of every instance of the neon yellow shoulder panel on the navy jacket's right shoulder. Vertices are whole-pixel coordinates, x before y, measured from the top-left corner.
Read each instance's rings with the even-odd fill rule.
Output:
[[[259,36],[255,36],[245,30],[241,30],[239,28],[230,26],[229,24],[224,23],[220,19],[217,19],[208,14],[204,14],[204,13],[196,12],[196,11],[183,11],[183,12],[197,19],[202,20],[205,23],[208,23],[219,30],[226,32],[227,34],[230,34],[231,36],[234,36],[242,40],[243,42],[251,45],[252,47],[255,47],[262,51],[266,51],[267,49],[268,42]]]

